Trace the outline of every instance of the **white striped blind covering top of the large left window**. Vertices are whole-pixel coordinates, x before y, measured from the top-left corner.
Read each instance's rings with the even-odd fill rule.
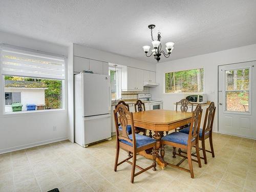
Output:
[[[2,75],[65,79],[65,58],[1,48]]]

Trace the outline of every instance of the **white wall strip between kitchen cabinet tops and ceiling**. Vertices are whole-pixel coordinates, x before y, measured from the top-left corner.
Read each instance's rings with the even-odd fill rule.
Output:
[[[89,59],[100,60],[104,62],[111,62],[111,63],[115,63],[117,65],[122,65],[122,66],[130,66],[130,67],[145,69],[149,71],[156,71],[155,63],[145,62],[145,61],[133,59],[130,57],[125,57],[125,56],[121,56],[113,53],[99,51],[96,49],[91,49],[91,48],[80,46],[77,44],[74,44],[74,55],[79,57],[89,58]]]

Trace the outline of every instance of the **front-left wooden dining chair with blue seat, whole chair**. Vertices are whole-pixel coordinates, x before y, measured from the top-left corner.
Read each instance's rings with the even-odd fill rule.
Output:
[[[133,113],[127,110],[126,106],[123,104],[118,104],[116,109],[113,111],[114,118],[115,118],[115,125],[116,125],[116,158],[115,158],[115,166],[114,171],[116,172],[117,166],[127,162],[132,164],[132,175],[131,175],[131,183],[134,182],[134,177],[138,176],[139,174],[145,172],[146,170],[152,168],[156,170],[156,140],[144,135],[136,134],[135,127],[134,127],[134,120],[133,120]],[[131,119],[131,127],[132,127],[132,134],[128,134],[127,129],[127,116]],[[123,131],[119,132],[119,125],[120,122]],[[136,165],[136,156],[138,152],[148,150],[153,147],[153,163],[151,166],[146,168],[142,168]],[[132,153],[131,157],[128,157],[120,162],[118,162],[119,157],[119,150],[122,148],[125,151],[129,151]],[[133,162],[129,161],[129,159],[133,158]],[[135,173],[135,168],[140,169],[139,172]]]

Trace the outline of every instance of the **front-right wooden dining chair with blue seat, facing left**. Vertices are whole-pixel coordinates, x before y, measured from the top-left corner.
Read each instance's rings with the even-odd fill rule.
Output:
[[[175,148],[179,147],[183,150],[187,151],[187,156],[184,156],[182,154],[177,154],[183,159],[178,164],[171,164],[167,162],[167,165],[178,167],[182,170],[185,170],[187,172],[190,172],[191,178],[194,178],[194,172],[193,172],[193,166],[192,161],[198,162],[198,166],[201,167],[201,159],[199,154],[199,130],[200,130],[200,122],[202,117],[202,106],[201,104],[197,105],[196,110],[193,112],[190,127],[189,127],[189,134],[181,133],[181,132],[173,132],[170,133],[164,137],[161,138],[161,147],[164,148],[164,145],[170,145],[173,146],[174,152],[173,157],[175,158],[176,152]],[[197,154],[197,160],[191,158],[191,148],[195,146],[196,147],[196,154]],[[180,167],[179,165],[188,159],[188,166],[189,169]]]

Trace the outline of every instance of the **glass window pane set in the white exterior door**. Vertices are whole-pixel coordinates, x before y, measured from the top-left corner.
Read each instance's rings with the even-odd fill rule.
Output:
[[[225,71],[226,111],[249,112],[249,70]]]

